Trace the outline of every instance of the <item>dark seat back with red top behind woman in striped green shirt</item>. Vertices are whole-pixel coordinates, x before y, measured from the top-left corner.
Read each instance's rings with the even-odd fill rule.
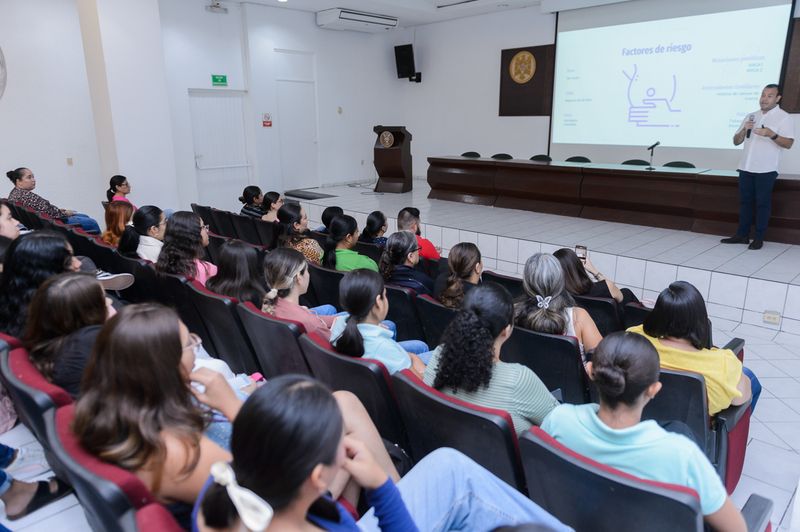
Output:
[[[415,462],[436,449],[452,447],[525,492],[519,444],[508,412],[451,397],[410,370],[395,373],[392,384]]]

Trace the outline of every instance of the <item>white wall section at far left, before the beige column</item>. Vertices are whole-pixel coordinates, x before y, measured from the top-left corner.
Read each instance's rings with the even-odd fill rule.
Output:
[[[8,86],[0,99],[0,169],[30,167],[36,192],[99,216],[103,179],[74,1],[0,2]],[[71,157],[73,166],[66,159]]]

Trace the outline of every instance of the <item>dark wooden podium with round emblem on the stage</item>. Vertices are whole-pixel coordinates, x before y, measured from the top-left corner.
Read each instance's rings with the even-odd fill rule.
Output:
[[[375,192],[411,190],[411,133],[403,126],[375,126]]]

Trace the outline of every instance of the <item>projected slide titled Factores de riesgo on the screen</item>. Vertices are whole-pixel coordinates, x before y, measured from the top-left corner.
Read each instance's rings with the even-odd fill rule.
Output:
[[[732,148],[761,89],[778,81],[790,9],[559,32],[552,142]]]

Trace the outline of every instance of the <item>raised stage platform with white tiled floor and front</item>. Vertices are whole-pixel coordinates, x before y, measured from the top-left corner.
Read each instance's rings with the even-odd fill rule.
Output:
[[[404,194],[379,195],[354,186],[314,190],[334,197],[300,200],[311,227],[320,224],[325,207],[339,205],[359,227],[370,212],[383,211],[391,233],[400,209],[414,206],[420,210],[424,236],[443,255],[458,242],[474,242],[488,270],[519,276],[533,253],[582,244],[603,274],[641,298],[654,300],[670,282],[686,280],[706,298],[715,328],[733,331],[742,323],[800,334],[800,246],[766,242],[763,249],[750,251],[744,245],[719,243],[730,235],[428,199],[430,188],[421,179]],[[765,323],[764,311],[779,312],[780,324]]]

